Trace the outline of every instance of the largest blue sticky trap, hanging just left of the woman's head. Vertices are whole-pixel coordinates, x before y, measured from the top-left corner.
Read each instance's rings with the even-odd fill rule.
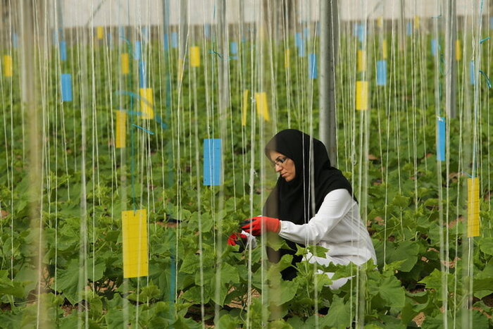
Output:
[[[204,185],[221,184],[221,139],[204,139]]]

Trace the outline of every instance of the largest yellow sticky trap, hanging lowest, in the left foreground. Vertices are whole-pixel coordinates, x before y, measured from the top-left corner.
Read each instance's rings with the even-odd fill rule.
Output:
[[[147,211],[122,211],[123,278],[149,275]]]

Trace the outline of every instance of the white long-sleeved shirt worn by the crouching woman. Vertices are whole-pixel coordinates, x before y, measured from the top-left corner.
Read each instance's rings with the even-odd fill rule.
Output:
[[[377,263],[375,249],[366,225],[361,221],[358,204],[345,189],[329,192],[308,223],[297,225],[281,221],[279,235],[292,242],[328,249],[325,258],[306,255],[310,262],[316,261],[322,265],[347,265],[352,262],[361,265],[373,259]]]

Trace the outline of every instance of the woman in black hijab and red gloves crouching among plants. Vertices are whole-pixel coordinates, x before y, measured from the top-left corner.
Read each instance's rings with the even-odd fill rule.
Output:
[[[250,218],[242,229],[251,235],[277,232],[294,249],[268,249],[270,261],[292,254],[293,263],[299,262],[302,257],[294,255],[296,244],[311,244],[328,252],[325,257],[306,255],[310,262],[361,265],[373,259],[376,263],[351,185],[340,170],[330,166],[324,144],[304,132],[287,129],[270,139],[265,152],[279,178],[263,206],[263,216]],[[282,271],[285,280],[296,275],[294,267]],[[346,282],[347,278],[335,280],[331,287],[337,289]]]

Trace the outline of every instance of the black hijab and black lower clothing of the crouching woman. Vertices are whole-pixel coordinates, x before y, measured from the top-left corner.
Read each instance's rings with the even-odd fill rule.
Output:
[[[269,161],[270,151],[277,151],[292,159],[296,168],[296,176],[290,182],[286,182],[282,177],[277,179],[273,191],[270,192],[263,206],[264,216],[302,225],[308,223],[310,218],[317,213],[329,192],[346,189],[349,194],[353,194],[351,184],[341,171],[330,166],[327,149],[320,140],[299,130],[282,130],[266,145],[265,152]],[[296,244],[287,240],[286,242],[290,248],[294,249],[294,252],[288,249],[275,252],[268,248],[270,261],[277,262],[284,254],[292,254],[293,263],[301,261],[301,256],[294,255],[297,249]],[[296,276],[294,268],[282,271],[282,277],[285,280],[291,280],[294,276]]]

